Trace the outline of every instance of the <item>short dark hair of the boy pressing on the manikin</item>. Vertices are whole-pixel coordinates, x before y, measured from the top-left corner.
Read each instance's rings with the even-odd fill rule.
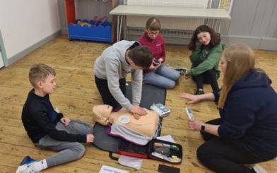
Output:
[[[135,65],[143,69],[148,69],[153,63],[152,52],[147,46],[136,46],[129,51],[128,56]]]

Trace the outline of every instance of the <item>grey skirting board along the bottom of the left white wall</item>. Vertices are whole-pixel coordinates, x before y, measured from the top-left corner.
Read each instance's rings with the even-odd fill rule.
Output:
[[[54,32],[54,34],[51,34],[48,37],[45,37],[44,39],[38,41],[37,43],[33,44],[32,46],[29,46],[28,48],[24,49],[23,51],[16,53],[16,55],[9,57],[8,64],[5,64],[5,66],[7,67],[8,65],[11,65],[12,63],[16,62],[16,60],[19,60],[23,56],[28,55],[28,53],[35,51],[35,49],[38,49],[40,46],[47,44],[47,42],[56,38],[57,36],[59,36],[59,34],[61,34],[61,30]]]

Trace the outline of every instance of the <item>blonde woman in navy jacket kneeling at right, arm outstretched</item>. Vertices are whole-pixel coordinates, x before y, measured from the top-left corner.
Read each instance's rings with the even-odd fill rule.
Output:
[[[277,94],[271,79],[254,64],[249,46],[230,46],[220,60],[220,96],[181,94],[188,103],[218,101],[220,118],[206,123],[189,120],[189,128],[201,131],[205,140],[197,157],[215,172],[257,172],[259,165],[250,169],[244,164],[277,156]]]

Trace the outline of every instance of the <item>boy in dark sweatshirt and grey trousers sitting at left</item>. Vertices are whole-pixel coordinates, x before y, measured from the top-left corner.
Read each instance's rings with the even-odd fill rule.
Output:
[[[33,85],[23,106],[22,122],[35,146],[57,150],[58,153],[40,161],[30,156],[23,158],[16,170],[19,172],[40,172],[72,160],[78,160],[85,153],[81,143],[93,143],[93,127],[77,120],[70,120],[54,110],[49,94],[56,88],[56,72],[45,64],[33,65],[29,80]]]

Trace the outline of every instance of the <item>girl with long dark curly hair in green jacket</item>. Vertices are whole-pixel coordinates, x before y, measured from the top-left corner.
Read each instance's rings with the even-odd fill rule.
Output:
[[[224,44],[220,43],[220,34],[216,33],[207,25],[200,25],[194,31],[189,42],[189,50],[192,51],[189,57],[191,70],[187,72],[185,78],[191,77],[197,89],[195,95],[204,94],[203,85],[211,84],[213,91],[218,91],[218,63]]]

